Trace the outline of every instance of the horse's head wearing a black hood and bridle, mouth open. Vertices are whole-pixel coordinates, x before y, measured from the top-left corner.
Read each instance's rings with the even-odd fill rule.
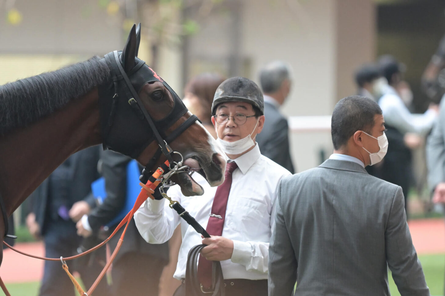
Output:
[[[137,159],[150,170],[169,157],[159,147],[171,147],[210,186],[222,184],[225,154],[174,90],[137,57],[140,26],[130,30],[122,52],[110,52],[103,58],[111,71],[110,79],[99,86],[104,148]],[[179,161],[178,154],[172,156]],[[186,196],[203,194],[189,174],[178,174],[173,180]]]

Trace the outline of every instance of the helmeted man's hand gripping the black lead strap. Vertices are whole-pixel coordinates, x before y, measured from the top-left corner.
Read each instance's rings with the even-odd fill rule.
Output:
[[[203,237],[203,236],[201,236]],[[211,261],[230,259],[233,253],[233,241],[223,236],[211,236],[202,240],[207,246],[202,248],[201,255]]]

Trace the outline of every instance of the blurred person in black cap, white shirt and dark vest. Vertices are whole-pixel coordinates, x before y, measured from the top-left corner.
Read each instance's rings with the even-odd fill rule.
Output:
[[[413,180],[411,149],[419,146],[418,136],[425,136],[433,126],[437,105],[431,104],[423,114],[412,114],[396,90],[402,81],[405,66],[389,55],[381,56],[378,65],[388,81],[379,105],[385,118],[389,145],[388,153],[376,176],[401,186],[405,196],[405,211],[409,216],[407,197]]]

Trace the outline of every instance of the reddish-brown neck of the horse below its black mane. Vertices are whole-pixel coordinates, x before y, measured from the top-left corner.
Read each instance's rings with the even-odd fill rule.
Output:
[[[0,193],[8,216],[71,154],[99,143],[97,88],[0,138]]]

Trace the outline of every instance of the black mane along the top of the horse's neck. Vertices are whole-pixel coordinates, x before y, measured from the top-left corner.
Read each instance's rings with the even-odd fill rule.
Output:
[[[32,124],[85,95],[109,77],[98,56],[0,86],[0,135]]]

